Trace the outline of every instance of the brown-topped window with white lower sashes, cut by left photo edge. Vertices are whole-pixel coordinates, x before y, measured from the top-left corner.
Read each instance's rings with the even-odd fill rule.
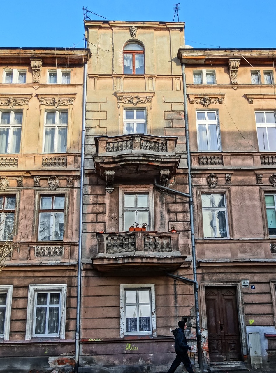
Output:
[[[0,195],[0,241],[12,241],[15,195]]]

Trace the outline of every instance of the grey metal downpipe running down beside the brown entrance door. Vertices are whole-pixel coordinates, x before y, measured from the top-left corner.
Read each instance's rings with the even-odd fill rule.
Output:
[[[195,254],[195,234],[194,234],[194,206],[192,198],[192,175],[191,175],[191,153],[189,145],[189,127],[188,127],[188,111],[187,111],[187,89],[186,89],[186,75],[185,64],[181,64],[183,95],[184,95],[184,118],[185,118],[185,136],[186,136],[186,150],[187,150],[187,166],[188,166],[188,185],[189,185],[189,204],[190,204],[190,222],[191,222],[191,243],[192,243],[192,267],[194,280],[197,283],[197,266]],[[199,321],[199,303],[198,303],[198,286],[194,284],[195,293],[195,324],[197,332],[197,354],[200,372],[203,372],[203,358],[202,358],[202,344]]]

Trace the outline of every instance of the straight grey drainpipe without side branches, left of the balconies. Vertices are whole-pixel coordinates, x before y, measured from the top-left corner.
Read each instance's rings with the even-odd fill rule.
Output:
[[[82,129],[81,129],[81,188],[79,201],[79,250],[78,250],[78,285],[77,285],[77,317],[76,317],[76,353],[75,372],[79,367],[79,333],[81,326],[81,249],[82,249],[82,208],[84,193],[84,146],[85,146],[85,111],[86,111],[87,62],[84,64],[84,86],[82,91]]]

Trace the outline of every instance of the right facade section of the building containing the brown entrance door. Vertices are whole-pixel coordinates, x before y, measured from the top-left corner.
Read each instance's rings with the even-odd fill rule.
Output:
[[[273,366],[274,52],[180,48],[178,57],[186,76],[204,358],[222,367]]]

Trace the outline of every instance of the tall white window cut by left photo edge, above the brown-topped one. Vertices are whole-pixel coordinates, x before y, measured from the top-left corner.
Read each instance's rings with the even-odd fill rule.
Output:
[[[0,112],[0,153],[19,153],[23,112]]]

